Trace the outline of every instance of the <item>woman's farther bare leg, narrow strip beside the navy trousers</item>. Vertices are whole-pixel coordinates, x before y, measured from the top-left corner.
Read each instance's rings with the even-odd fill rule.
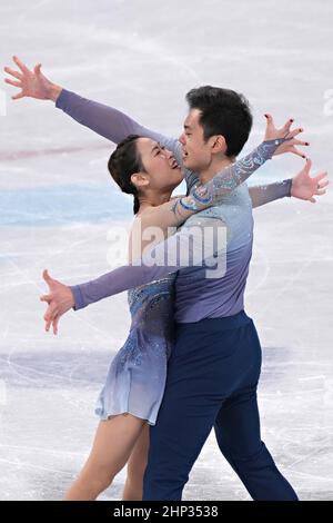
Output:
[[[148,451],[149,425],[145,425],[128,462],[128,476],[122,494],[123,501],[142,501],[143,475],[147,467]]]

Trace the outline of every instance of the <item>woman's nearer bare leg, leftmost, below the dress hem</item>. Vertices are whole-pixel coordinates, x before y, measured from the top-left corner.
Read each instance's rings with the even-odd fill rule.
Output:
[[[144,426],[144,420],[120,414],[98,425],[90,455],[78,478],[65,493],[65,501],[90,501],[111,485],[128,462]]]

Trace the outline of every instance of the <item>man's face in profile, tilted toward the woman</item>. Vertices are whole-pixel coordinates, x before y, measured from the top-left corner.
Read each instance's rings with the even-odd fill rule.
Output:
[[[196,172],[206,169],[212,160],[212,139],[204,141],[203,127],[199,122],[200,115],[200,109],[190,110],[184,121],[184,131],[179,138],[183,146],[184,167]]]

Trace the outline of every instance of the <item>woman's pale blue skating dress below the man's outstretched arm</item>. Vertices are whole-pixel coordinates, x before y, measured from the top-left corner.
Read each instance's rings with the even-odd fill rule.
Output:
[[[102,420],[130,413],[155,424],[174,336],[174,279],[173,273],[128,290],[131,327],[98,398],[95,413]]]

